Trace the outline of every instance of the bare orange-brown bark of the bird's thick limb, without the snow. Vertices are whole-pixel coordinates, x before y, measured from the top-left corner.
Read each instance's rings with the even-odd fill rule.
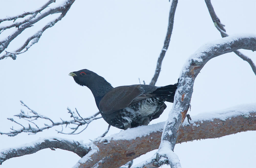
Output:
[[[208,121],[197,121],[191,125],[183,124],[180,128],[176,143],[198,139],[219,138],[242,131],[256,130],[256,109],[248,116],[231,117],[225,121],[215,118]],[[164,126],[164,123],[159,123]],[[158,130],[149,135],[133,140],[96,141],[94,144],[99,152],[93,153],[92,161],[79,163],[78,167],[120,167],[128,161],[149,151],[158,149],[162,131]],[[152,164],[152,163],[151,163]],[[152,164],[153,165],[153,164]],[[145,167],[150,167],[147,165]],[[155,167],[155,166],[154,166]]]

